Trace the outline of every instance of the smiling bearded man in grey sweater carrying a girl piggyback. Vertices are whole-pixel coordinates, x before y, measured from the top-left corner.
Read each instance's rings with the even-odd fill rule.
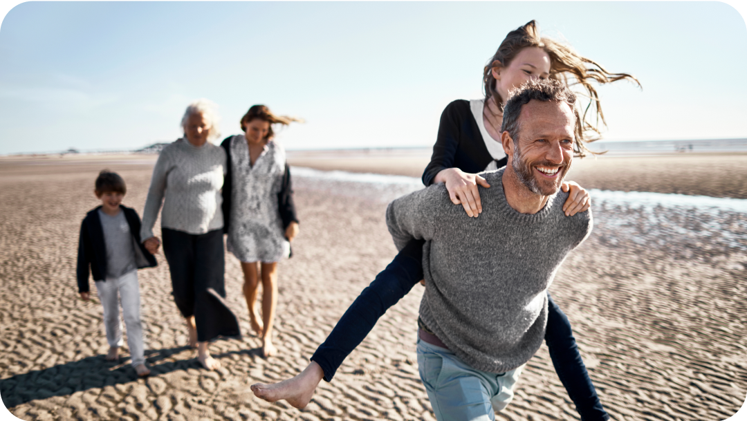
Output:
[[[566,217],[560,191],[579,124],[558,81],[528,81],[503,110],[508,164],[483,176],[483,213],[453,206],[443,184],[387,209],[398,249],[428,240],[418,367],[438,420],[493,420],[511,401],[521,367],[545,337],[547,289],[591,232],[590,211]]]

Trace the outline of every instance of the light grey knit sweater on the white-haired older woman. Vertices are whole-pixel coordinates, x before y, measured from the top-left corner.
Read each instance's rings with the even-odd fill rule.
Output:
[[[197,148],[187,139],[166,146],[153,169],[140,238],[153,237],[161,201],[161,228],[188,234],[223,228],[220,189],[225,172],[226,152],[220,146],[208,142]]]

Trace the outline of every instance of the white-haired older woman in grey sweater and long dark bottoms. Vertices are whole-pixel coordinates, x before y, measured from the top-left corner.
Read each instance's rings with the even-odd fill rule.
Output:
[[[220,361],[208,352],[208,341],[237,336],[238,320],[226,306],[223,257],[221,188],[226,174],[226,152],[216,139],[217,114],[205,99],[193,102],[182,118],[185,136],[166,146],[153,169],[143,211],[140,238],[149,252],[161,242],[153,225],[163,202],[161,234],[169,262],[176,307],[187,319],[190,346],[206,369]]]

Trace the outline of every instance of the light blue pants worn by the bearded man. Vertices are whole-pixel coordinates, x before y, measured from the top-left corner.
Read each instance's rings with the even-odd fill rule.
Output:
[[[494,421],[509,405],[521,367],[496,374],[470,367],[448,349],[418,338],[418,372],[438,421]]]

